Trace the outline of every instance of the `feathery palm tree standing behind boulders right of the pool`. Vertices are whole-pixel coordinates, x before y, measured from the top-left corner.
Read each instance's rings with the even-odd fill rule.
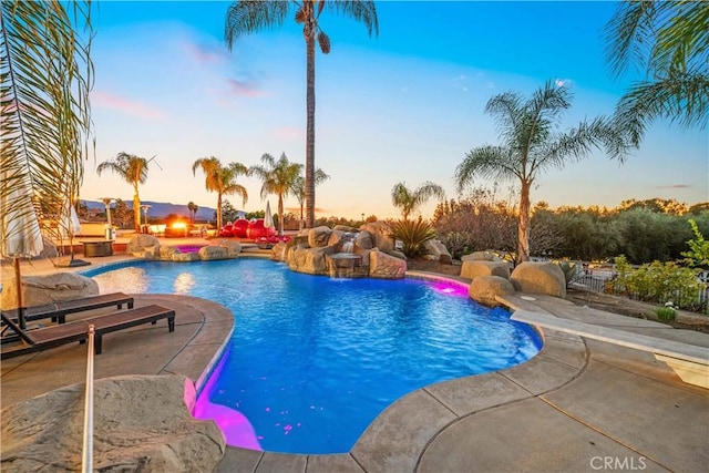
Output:
[[[493,96],[485,112],[495,117],[502,144],[470,151],[455,169],[459,193],[474,177],[520,181],[517,263],[530,259],[530,191],[536,176],[549,167],[562,168],[566,160],[582,160],[593,148],[604,147],[612,158],[623,162],[629,148],[623,131],[603,116],[580,122],[563,133],[555,132],[563,112],[571,107],[572,97],[566,86],[553,82],[526,101],[514,92]]]

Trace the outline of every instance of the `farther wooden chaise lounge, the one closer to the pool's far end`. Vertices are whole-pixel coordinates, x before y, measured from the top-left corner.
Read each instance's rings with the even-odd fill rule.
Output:
[[[119,309],[126,304],[129,309],[133,308],[133,298],[123,292],[102,294],[99,296],[82,297],[80,299],[62,300],[58,302],[45,304],[43,306],[33,306],[24,309],[24,320],[49,319],[59,323],[66,321],[70,313],[83,312],[86,310],[101,309],[104,307],[116,306]],[[18,319],[18,310],[4,310],[3,313],[12,319]]]

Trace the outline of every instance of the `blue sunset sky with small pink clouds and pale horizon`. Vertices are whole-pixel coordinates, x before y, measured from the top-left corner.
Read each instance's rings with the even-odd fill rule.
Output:
[[[132,200],[132,186],[95,167],[120,152],[152,158],[142,200],[215,207],[193,163],[260,164],[265,153],[305,164],[306,47],[300,27],[239,38],[229,52],[224,1],[99,1],[92,18],[95,84],[91,93],[95,156],[85,163],[81,198]],[[603,29],[616,2],[377,1],[379,35],[325,12],[331,51],[316,53],[316,166],[330,179],[316,188],[316,217],[395,218],[391,189],[441,185],[459,195],[456,166],[472,148],[499,144],[487,101],[528,97],[547,81],[574,99],[561,130],[610,114],[640,71],[610,74]],[[709,200],[709,133],[653,124],[624,164],[596,152],[541,174],[532,203],[552,208],[615,207],[626,199]],[[261,183],[226,198],[263,210]],[[475,181],[473,187],[495,183]],[[506,198],[516,182],[497,183]],[[271,207],[277,197],[267,197]],[[286,199],[286,212],[297,200]],[[421,207],[424,218],[436,202]]]

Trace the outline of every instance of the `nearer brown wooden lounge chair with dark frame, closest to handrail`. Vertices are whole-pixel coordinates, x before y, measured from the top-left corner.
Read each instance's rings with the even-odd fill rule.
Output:
[[[12,319],[4,313],[2,321],[7,323],[22,340],[23,345],[10,347],[2,350],[0,358],[7,359],[41,351],[48,348],[71,343],[72,341],[83,342],[89,338],[89,326],[94,326],[94,352],[102,351],[102,337],[119,330],[143,323],[156,323],[160,319],[167,319],[167,327],[171,332],[175,331],[175,311],[162,306],[151,305],[119,312],[106,313],[89,319],[74,320],[47,328],[34,330],[22,330]]]

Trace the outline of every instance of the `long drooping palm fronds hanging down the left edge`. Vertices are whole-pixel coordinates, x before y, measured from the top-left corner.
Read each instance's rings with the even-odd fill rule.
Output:
[[[0,2],[3,255],[39,251],[40,245],[10,241],[22,244],[21,235],[37,228],[38,203],[68,212],[65,204],[79,195],[92,134],[92,38],[89,1]]]

